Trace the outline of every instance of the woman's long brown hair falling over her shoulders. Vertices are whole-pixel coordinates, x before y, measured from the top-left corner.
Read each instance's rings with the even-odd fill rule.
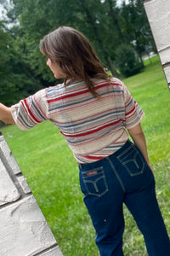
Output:
[[[91,78],[110,80],[88,38],[70,26],[48,33],[40,41],[40,50],[65,73],[65,85],[81,79],[94,96],[99,96]]]

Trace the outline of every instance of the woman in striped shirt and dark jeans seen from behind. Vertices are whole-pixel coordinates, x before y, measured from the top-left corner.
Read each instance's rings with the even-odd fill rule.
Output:
[[[1,104],[0,119],[22,130],[47,119],[57,125],[78,162],[101,256],[123,255],[123,203],[144,235],[149,255],[169,256],[140,125],[142,109],[119,79],[105,73],[88,39],[76,29],[59,27],[42,38],[40,49],[55,79],[64,83],[11,108]]]

